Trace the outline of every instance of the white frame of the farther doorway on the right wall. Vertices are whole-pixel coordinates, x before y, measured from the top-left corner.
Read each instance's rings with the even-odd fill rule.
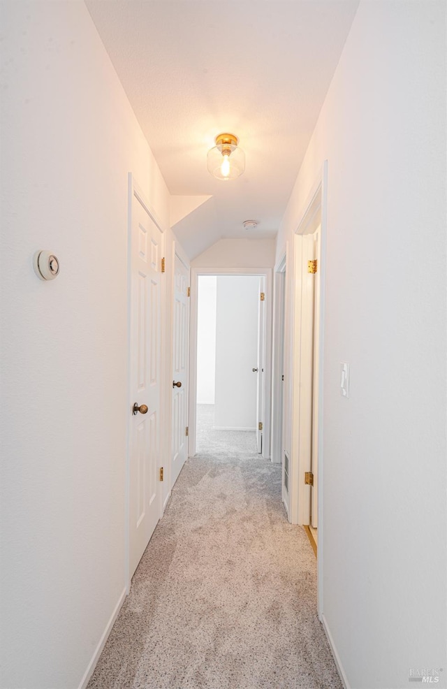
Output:
[[[272,351],[272,462],[281,464],[284,451],[284,305],[286,253],[274,267]]]

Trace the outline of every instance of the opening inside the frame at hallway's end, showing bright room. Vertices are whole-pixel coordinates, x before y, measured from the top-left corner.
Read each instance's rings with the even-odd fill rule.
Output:
[[[263,306],[260,275],[200,275],[197,304],[196,450],[243,432],[263,451]]]

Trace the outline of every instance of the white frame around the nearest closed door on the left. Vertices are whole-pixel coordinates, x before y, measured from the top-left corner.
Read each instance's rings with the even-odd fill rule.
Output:
[[[130,547],[131,547],[131,539],[130,539],[130,516],[131,516],[131,509],[130,509],[130,500],[131,500],[131,470],[130,470],[130,462],[131,462],[131,454],[130,454],[130,447],[131,447],[131,419],[132,419],[132,414],[131,414],[131,408],[133,405],[133,398],[131,397],[132,391],[131,391],[131,308],[132,308],[132,254],[131,254],[131,241],[132,241],[132,203],[133,203],[133,196],[136,196],[140,203],[145,207],[147,210],[147,213],[149,214],[149,217],[152,218],[156,226],[159,228],[161,231],[162,235],[162,240],[163,240],[163,245],[162,245],[162,254],[164,253],[165,250],[165,245],[166,245],[166,233],[165,233],[165,228],[163,227],[163,224],[161,223],[158,215],[156,215],[156,212],[154,208],[152,208],[152,205],[149,203],[147,200],[147,197],[145,196],[144,192],[142,191],[142,188],[138,184],[138,182],[135,181],[135,177],[133,177],[132,173],[129,173],[128,175],[128,208],[127,208],[127,356],[126,356],[126,363],[127,363],[127,370],[126,370],[126,379],[127,379],[127,394],[126,394],[126,409],[125,409],[125,414],[126,414],[126,529],[125,529],[125,538],[124,538],[124,548],[125,548],[125,554],[124,554],[124,576],[125,576],[125,581],[126,581],[126,594],[129,594],[129,591],[131,590],[131,576],[130,576]],[[161,280],[161,312],[166,312],[166,286],[164,284],[164,281]],[[162,320],[163,323],[163,320]],[[166,351],[166,328],[162,327],[161,328],[161,362],[160,362],[160,369],[161,372],[164,370],[164,359],[163,359],[163,352]],[[166,453],[166,442],[167,442],[167,437],[166,437],[166,432],[164,431],[165,425],[164,425],[164,419],[163,419],[163,410],[165,409],[166,406],[166,393],[164,391],[164,386],[163,384],[161,385],[161,399],[160,399],[160,412],[161,412],[161,419],[160,419],[160,454],[161,456],[164,456]],[[161,517],[163,514],[163,509],[162,509],[162,500],[163,500],[163,495],[162,491],[159,491],[159,496],[158,496],[158,501],[159,501],[159,516]]]

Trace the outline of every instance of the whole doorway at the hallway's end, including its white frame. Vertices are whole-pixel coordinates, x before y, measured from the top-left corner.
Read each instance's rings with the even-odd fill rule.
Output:
[[[189,456],[207,427],[270,459],[271,295],[268,268],[192,268]]]

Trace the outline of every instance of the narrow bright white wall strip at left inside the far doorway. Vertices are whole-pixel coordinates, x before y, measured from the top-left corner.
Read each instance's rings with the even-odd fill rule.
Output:
[[[198,277],[197,403],[214,405],[216,393],[217,277]]]

